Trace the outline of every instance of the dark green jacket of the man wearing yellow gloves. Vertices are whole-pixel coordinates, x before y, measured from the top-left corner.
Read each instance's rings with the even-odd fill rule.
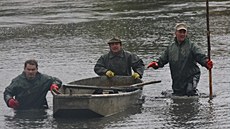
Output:
[[[95,73],[100,76],[105,75],[108,70],[113,71],[115,75],[131,76],[132,69],[142,77],[144,63],[137,55],[124,50],[119,55],[114,55],[111,51],[102,55],[94,67]]]

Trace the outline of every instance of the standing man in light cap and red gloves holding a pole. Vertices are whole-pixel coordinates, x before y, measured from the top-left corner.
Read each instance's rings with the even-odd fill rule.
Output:
[[[197,63],[207,69],[212,69],[213,63],[208,60],[201,48],[189,40],[185,23],[178,23],[175,30],[174,41],[157,61],[149,63],[148,68],[158,69],[169,63],[173,94],[179,96],[198,95],[196,88],[201,73]]]

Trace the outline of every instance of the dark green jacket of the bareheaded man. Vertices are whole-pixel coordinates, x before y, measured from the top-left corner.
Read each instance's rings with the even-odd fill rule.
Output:
[[[8,105],[10,98],[15,97],[19,102],[18,109],[42,109],[48,108],[46,94],[51,84],[57,84],[59,87],[62,82],[45,74],[37,73],[33,80],[28,80],[23,72],[14,78],[11,84],[4,91],[4,100]]]

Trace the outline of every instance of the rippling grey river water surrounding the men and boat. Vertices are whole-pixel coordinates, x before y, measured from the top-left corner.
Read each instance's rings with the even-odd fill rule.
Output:
[[[35,58],[39,71],[64,83],[94,77],[94,64],[108,52],[106,41],[117,35],[126,50],[148,64],[173,38],[176,22],[188,23],[189,35],[207,51],[205,1],[195,0],[1,0],[0,93],[23,70],[26,59]],[[0,127],[5,129],[70,128],[229,128],[230,127],[230,2],[210,2],[213,93],[216,97],[169,99],[161,91],[171,89],[169,67],[146,69],[144,81],[162,80],[144,87],[142,107],[87,120],[55,119],[52,95],[46,111],[14,112],[0,98]],[[198,89],[209,94],[208,71],[201,67]]]

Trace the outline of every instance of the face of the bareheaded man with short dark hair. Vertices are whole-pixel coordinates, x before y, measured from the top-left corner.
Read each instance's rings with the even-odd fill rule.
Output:
[[[27,64],[24,68],[24,72],[26,74],[26,78],[32,80],[35,78],[38,72],[38,68],[36,67],[36,65]]]

